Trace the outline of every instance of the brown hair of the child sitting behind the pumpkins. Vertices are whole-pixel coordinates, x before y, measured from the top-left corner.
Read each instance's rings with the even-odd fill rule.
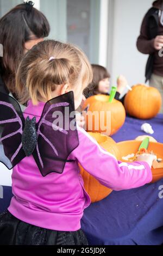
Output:
[[[103,66],[92,64],[92,69],[93,69],[93,81],[84,90],[84,95],[86,97],[99,94],[99,90],[98,90],[99,82],[105,78],[110,78],[109,72]]]

